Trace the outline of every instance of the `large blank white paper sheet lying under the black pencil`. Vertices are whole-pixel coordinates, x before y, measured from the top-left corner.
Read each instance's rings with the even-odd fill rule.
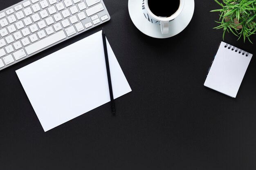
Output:
[[[116,99],[131,88],[108,40],[107,49]],[[110,102],[101,31],[16,73],[44,131]]]

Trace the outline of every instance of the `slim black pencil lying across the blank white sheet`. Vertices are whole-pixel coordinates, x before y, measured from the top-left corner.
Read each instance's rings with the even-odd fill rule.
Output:
[[[110,93],[111,110],[112,110],[112,113],[115,114],[116,109],[115,109],[115,102],[114,102],[114,97],[113,97],[110,68],[109,68],[109,63],[108,63],[108,50],[107,50],[107,44],[106,44],[106,35],[105,35],[105,32],[103,29],[102,29],[102,41],[103,41],[105,62],[106,62],[107,75],[108,75],[108,88],[109,88],[109,93]]]

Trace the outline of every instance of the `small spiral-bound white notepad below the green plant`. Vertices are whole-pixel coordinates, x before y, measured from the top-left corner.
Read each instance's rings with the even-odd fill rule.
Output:
[[[229,45],[225,48],[226,43],[221,42],[216,56],[213,60],[209,73],[204,82],[204,86],[212,88],[220,93],[224,93],[230,97],[236,97],[238,89],[243,80],[252,54],[247,52],[236,52],[236,47],[232,51]]]

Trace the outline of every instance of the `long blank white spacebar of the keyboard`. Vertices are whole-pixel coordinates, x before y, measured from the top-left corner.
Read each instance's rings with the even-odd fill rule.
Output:
[[[27,54],[30,55],[32,53],[35,53],[36,51],[39,51],[49,45],[52,45],[60,40],[63,40],[64,38],[66,38],[66,35],[64,33],[64,31],[60,31],[58,33],[55,33],[53,35],[50,35],[49,37],[40,40],[38,42],[35,42],[34,44],[31,44],[27,47],[25,47],[25,50],[27,51]]]

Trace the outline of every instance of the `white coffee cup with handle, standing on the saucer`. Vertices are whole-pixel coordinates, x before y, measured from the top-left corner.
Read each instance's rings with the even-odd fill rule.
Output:
[[[148,0],[142,0],[142,10],[143,10],[146,20],[148,20],[152,24],[160,25],[162,34],[168,34],[169,29],[171,29],[171,28],[169,28],[169,22],[174,20],[175,18],[177,18],[177,16],[180,15],[180,13],[182,12],[182,10],[184,8],[185,0],[179,0],[179,1],[180,1],[180,5],[179,5],[177,11],[175,11],[171,16],[163,17],[163,16],[155,15],[148,7]],[[162,1],[158,0],[158,2],[156,2],[156,3],[162,3]],[[168,5],[168,4],[162,4],[162,5]]]

